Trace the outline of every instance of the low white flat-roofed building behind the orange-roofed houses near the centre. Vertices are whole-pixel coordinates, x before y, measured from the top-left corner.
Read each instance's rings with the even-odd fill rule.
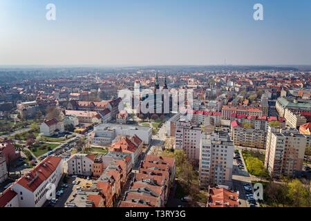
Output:
[[[137,135],[145,145],[151,143],[152,128],[148,126],[133,126],[124,124],[100,124],[94,127],[93,144],[107,146],[115,137]]]

